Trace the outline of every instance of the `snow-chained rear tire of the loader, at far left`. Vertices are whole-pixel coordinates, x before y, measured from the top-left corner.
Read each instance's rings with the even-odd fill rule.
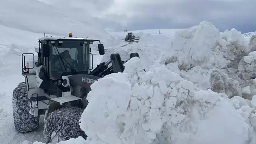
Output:
[[[20,83],[12,95],[12,111],[15,129],[18,132],[26,133],[38,129],[39,115],[34,117],[29,114],[31,100],[27,97],[26,84]]]

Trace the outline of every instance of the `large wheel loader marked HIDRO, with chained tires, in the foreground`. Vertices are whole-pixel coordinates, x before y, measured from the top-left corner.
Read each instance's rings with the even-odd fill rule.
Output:
[[[24,82],[13,91],[13,117],[15,129],[26,133],[38,129],[39,117],[44,116],[43,133],[46,143],[64,141],[82,136],[79,120],[87,107],[90,85],[111,73],[123,72],[119,54],[93,69],[90,45],[99,42],[99,55],[105,55],[100,40],[69,37],[42,37],[33,53],[23,53]],[[30,55],[33,59],[26,61]],[[139,57],[131,53],[130,58]]]

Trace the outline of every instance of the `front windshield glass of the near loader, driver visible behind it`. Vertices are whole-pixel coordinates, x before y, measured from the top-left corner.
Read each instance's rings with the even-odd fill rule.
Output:
[[[63,41],[50,51],[50,77],[60,78],[63,72],[88,71],[89,44]]]

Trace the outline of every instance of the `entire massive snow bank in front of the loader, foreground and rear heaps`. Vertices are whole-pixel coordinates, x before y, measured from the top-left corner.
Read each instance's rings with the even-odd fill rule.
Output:
[[[255,43],[202,22],[108,49],[140,59],[91,86],[80,124],[87,141],[59,144],[255,144]]]

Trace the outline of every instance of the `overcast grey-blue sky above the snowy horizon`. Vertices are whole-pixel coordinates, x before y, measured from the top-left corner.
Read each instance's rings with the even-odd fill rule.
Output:
[[[92,0],[105,27],[188,28],[203,20],[221,31],[256,31],[256,0]],[[95,9],[95,8],[94,8]]]

